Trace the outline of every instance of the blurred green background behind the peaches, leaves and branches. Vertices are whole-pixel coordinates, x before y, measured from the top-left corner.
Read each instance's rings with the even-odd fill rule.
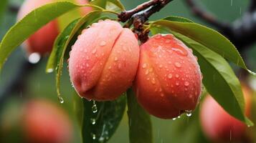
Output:
[[[4,4],[0,5],[4,7]],[[23,0],[9,0],[9,5],[20,6]],[[138,4],[145,2],[146,0],[121,0],[125,5],[126,9],[132,9]],[[211,11],[220,21],[225,22],[233,22],[236,19],[240,19],[242,14],[246,11],[247,6],[249,4],[249,0],[198,0],[200,6],[203,9],[207,9],[207,11]],[[0,6],[0,7],[1,7]],[[1,8],[0,8],[1,9]],[[1,11],[1,10],[0,10]],[[190,9],[186,6],[185,2],[182,0],[172,1],[171,4],[166,6],[160,12],[154,14],[151,17],[153,19],[161,19],[165,16],[184,16],[193,21],[196,21],[200,24],[204,24],[210,26],[204,21],[197,19],[191,14]],[[16,13],[5,9],[4,14],[0,16],[0,39],[6,31],[15,24],[16,22]],[[211,27],[211,26],[210,26]],[[212,27],[214,28],[214,27]],[[0,53],[1,54],[1,53]],[[248,47],[245,50],[246,62],[249,69],[252,71],[256,71],[256,46]],[[26,55],[22,48],[14,51],[13,54],[9,57],[6,62],[3,71],[0,75],[0,91],[4,89],[4,86],[10,81],[11,77],[14,76],[16,71],[21,64],[20,61],[25,59]],[[18,97],[19,99],[24,99],[26,97],[35,97],[35,98],[47,98],[52,102],[56,102],[59,104],[65,111],[70,115],[70,119],[74,124],[74,141],[80,142],[80,130],[77,127],[77,122],[75,120],[75,115],[72,112],[73,103],[72,103],[72,94],[73,89],[70,83],[70,79],[68,76],[68,72],[66,70],[66,66],[63,68],[62,74],[62,84],[61,90],[63,94],[63,98],[65,100],[64,104],[60,104],[57,100],[55,82],[54,82],[54,74],[45,74],[45,66],[47,63],[47,57],[43,57],[42,61],[39,63],[39,66],[29,75],[27,87],[29,90],[26,93],[16,93],[17,95],[9,95],[12,97]],[[6,104],[2,107],[7,108],[6,105],[16,104],[12,99],[9,99]],[[3,109],[2,109],[3,110]],[[204,134],[200,129],[198,113],[194,112],[192,117],[181,116],[181,119],[174,120],[163,120],[157,119],[155,117],[151,117],[153,122],[153,139],[156,143],[163,142],[208,142]],[[115,132],[114,136],[110,139],[110,143],[128,142],[128,118],[127,114],[123,117],[118,130]]]

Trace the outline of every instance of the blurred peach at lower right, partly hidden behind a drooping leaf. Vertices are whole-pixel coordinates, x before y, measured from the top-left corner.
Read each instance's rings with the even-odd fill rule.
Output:
[[[250,115],[251,92],[242,88],[245,97],[246,115]],[[235,119],[209,95],[205,97],[200,111],[200,119],[204,133],[214,142],[242,141],[245,138],[246,124]]]

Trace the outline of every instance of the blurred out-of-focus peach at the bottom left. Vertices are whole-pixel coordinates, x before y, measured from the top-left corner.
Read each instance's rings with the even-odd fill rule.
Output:
[[[29,102],[22,121],[28,142],[65,143],[72,139],[72,126],[67,114],[51,102]]]

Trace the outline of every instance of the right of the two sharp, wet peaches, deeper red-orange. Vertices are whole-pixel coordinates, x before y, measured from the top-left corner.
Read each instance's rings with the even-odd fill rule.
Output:
[[[191,49],[171,34],[151,37],[141,45],[135,89],[138,103],[156,117],[194,110],[202,76]]]

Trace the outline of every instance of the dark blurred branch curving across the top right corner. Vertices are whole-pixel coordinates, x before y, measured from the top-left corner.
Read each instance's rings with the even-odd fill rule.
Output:
[[[248,11],[242,15],[240,19],[231,24],[225,24],[209,14],[207,11],[202,10],[196,4],[196,0],[186,0],[191,11],[200,19],[207,21],[209,24],[216,26],[217,30],[224,34],[237,49],[242,52],[248,46],[254,44],[256,39],[256,0],[251,0]]]

